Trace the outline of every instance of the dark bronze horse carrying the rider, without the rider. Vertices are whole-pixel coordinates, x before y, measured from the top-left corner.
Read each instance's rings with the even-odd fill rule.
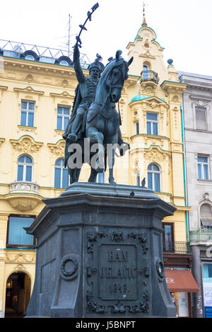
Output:
[[[117,51],[116,57],[114,59],[110,58],[110,62],[103,70],[98,81],[95,99],[86,111],[83,124],[85,127],[84,136],[77,142],[81,147],[78,154],[82,154],[81,158],[79,158],[82,161],[80,166],[74,167],[69,162],[69,158],[78,150],[77,144],[66,144],[65,165],[68,166],[70,184],[78,182],[81,166],[84,162],[91,166],[88,182],[96,182],[98,173],[102,173],[107,168],[108,146],[119,147],[118,143],[122,142],[122,150],[119,149],[121,155],[124,154],[123,151],[129,149],[129,144],[124,143],[122,139],[120,141],[120,137],[122,137],[119,128],[121,123],[120,114],[115,109],[115,103],[118,103],[121,97],[124,81],[128,78],[129,65],[133,61],[133,57],[131,57],[129,62],[126,62],[121,57],[121,54],[122,51]],[[96,147],[95,152],[92,149],[94,144]],[[78,154],[76,153],[76,159]],[[110,184],[115,184],[113,176],[114,154],[115,151],[112,149],[109,165]],[[96,156],[95,162],[92,162],[94,156]]]

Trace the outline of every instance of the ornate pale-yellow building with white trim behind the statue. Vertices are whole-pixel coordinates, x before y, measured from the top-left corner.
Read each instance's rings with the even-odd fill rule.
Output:
[[[186,84],[179,82],[172,62],[165,67],[163,47],[146,24],[127,49],[134,62],[119,109],[122,137],[131,149],[122,158],[117,156],[114,178],[117,184],[129,185],[141,185],[146,178],[146,186],[177,208],[174,216],[164,222],[172,225],[174,241],[186,244],[189,208],[184,190],[182,134],[182,93]],[[4,317],[7,307],[25,314],[35,280],[35,242],[30,239],[29,245],[25,240],[23,245],[20,235],[19,243],[14,243],[13,224],[30,222],[45,206],[42,199],[58,197],[64,190],[60,188],[64,187],[62,134],[77,81],[73,67],[66,63],[1,54],[0,311]],[[88,69],[83,70],[89,75]],[[89,173],[90,167],[84,165],[80,181],[88,181]],[[61,176],[59,185],[57,174]],[[105,182],[107,176],[108,170]],[[12,294],[12,284],[18,285],[18,295]]]

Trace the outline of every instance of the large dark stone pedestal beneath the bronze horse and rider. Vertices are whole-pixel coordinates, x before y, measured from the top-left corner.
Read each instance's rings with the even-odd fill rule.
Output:
[[[172,317],[161,220],[175,207],[131,185],[73,183],[26,229],[37,238],[27,317]]]

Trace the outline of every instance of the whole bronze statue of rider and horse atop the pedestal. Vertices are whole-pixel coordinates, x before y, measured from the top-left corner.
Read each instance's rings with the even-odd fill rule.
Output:
[[[77,49],[78,47],[76,46],[76,55],[78,55],[76,51]],[[65,166],[68,167],[70,183],[78,181],[83,162],[87,162],[91,166],[91,173],[88,182],[96,182],[98,173],[105,171],[107,167],[107,147],[118,147],[121,155],[124,154],[126,149],[129,149],[129,144],[122,141],[122,134],[119,128],[121,119],[119,112],[115,109],[115,103],[118,103],[119,98],[121,97],[124,81],[128,78],[127,72],[133,58],[131,58],[129,62],[126,62],[121,57],[121,54],[121,51],[117,51],[116,57],[114,59],[110,59],[110,62],[102,71],[102,76],[96,86],[95,98],[90,98],[93,99],[93,101],[87,110],[86,105],[89,103],[88,95],[85,96],[85,103],[78,103],[78,89],[80,89],[80,83],[76,88],[76,98],[73,102],[73,111],[71,113],[69,125],[63,135],[64,139],[66,139]],[[74,59],[76,59],[76,57]],[[98,68],[98,65],[102,68],[102,65],[98,60],[99,59],[96,60],[96,66],[92,64],[93,68]],[[92,74],[92,71],[90,71],[90,74]],[[98,71],[95,71],[95,77],[97,77],[97,74],[99,74]],[[83,89],[81,90],[84,91]],[[93,88],[92,91],[94,91]],[[76,105],[78,105],[78,108],[76,108]],[[85,142],[88,144],[85,144]],[[76,167],[73,167],[73,164],[71,164],[70,167],[69,159],[73,156],[74,149],[77,149],[76,143],[81,147],[81,149],[78,150],[78,154],[82,154],[82,156],[76,154],[76,158],[79,157],[82,163],[80,166]],[[92,147],[94,144],[98,147],[97,154],[91,152],[93,151]],[[74,149],[71,149],[73,146]],[[92,158],[95,154],[98,158],[96,158],[96,162],[94,164],[92,163]],[[113,166],[114,148],[112,148],[112,156],[109,165],[109,183],[111,184],[115,183],[113,177]]]

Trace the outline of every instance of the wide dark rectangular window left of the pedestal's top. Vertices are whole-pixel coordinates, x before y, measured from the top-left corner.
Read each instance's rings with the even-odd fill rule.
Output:
[[[9,217],[7,247],[33,246],[34,236],[23,229],[30,227],[33,221],[33,217]]]

